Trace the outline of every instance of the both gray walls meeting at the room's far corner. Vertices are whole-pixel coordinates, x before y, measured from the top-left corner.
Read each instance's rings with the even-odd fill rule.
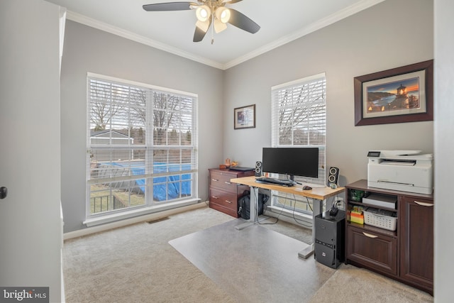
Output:
[[[397,12],[404,17],[397,18]],[[414,22],[409,22],[414,21]],[[404,39],[404,43],[402,43]],[[270,88],[326,72],[326,165],[341,185],[367,177],[368,150],[433,153],[433,122],[354,126],[353,77],[433,59],[433,1],[384,1],[222,71],[67,21],[62,62],[65,232],[84,228],[87,72],[199,94],[199,197],[225,158],[254,166],[271,145]],[[233,129],[233,109],[256,104],[256,128]],[[418,136],[415,136],[418,134]]]

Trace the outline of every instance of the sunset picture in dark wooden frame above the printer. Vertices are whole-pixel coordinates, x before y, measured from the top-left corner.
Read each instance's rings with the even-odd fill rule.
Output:
[[[433,60],[354,78],[355,126],[433,120]]]

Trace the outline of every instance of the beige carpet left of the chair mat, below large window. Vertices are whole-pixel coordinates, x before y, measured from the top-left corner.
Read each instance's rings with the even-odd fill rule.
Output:
[[[234,302],[168,241],[233,218],[209,208],[65,241],[67,302]]]

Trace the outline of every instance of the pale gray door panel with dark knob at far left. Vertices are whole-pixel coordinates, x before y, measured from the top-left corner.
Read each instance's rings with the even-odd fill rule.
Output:
[[[0,285],[49,287],[50,302],[63,286],[59,13],[0,1]]]

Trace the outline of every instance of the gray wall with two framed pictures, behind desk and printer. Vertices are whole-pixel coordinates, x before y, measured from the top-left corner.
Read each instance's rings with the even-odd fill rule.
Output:
[[[403,11],[402,18],[399,12]],[[384,1],[226,71],[223,158],[254,166],[271,145],[271,87],[326,72],[326,166],[341,185],[367,178],[367,151],[433,153],[433,122],[355,126],[353,78],[433,59],[433,1]],[[233,129],[233,109],[256,104],[255,128]]]

